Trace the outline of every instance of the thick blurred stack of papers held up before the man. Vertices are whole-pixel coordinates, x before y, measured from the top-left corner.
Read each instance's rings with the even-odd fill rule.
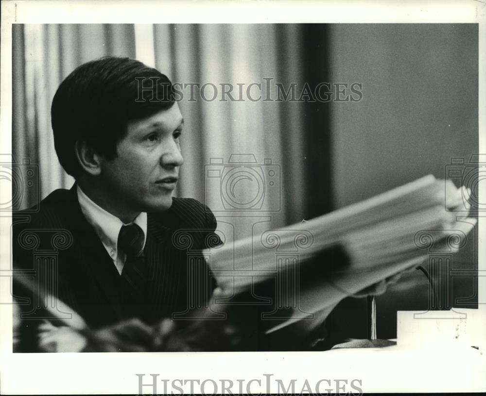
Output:
[[[306,265],[316,265],[310,259],[339,246],[348,256],[347,263],[317,263],[329,270],[305,278],[304,283],[301,279],[298,285],[299,306],[315,313],[423,263],[432,244],[434,249],[442,244],[449,251],[460,247],[475,225],[475,219],[467,217],[469,194],[452,181],[425,176],[310,221],[214,248],[211,269],[219,287],[231,296],[288,270],[277,264],[282,252],[298,250],[298,263],[288,265],[305,273]]]

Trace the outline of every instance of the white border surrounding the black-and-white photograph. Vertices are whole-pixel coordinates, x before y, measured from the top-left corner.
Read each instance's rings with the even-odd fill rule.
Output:
[[[116,10],[115,12],[113,12]],[[150,12],[148,11],[150,10]],[[12,152],[12,24],[13,23],[478,23],[479,24],[479,150],[486,152],[485,1],[2,1],[1,3],[0,152]],[[162,17],[163,15],[163,17]],[[162,20],[163,19],[163,20]],[[484,183],[483,183],[484,187]],[[2,202],[11,191],[0,191]],[[485,196],[485,191],[480,195]],[[1,218],[1,270],[10,268],[10,224]],[[479,240],[485,221],[479,220]],[[485,269],[486,244],[479,243],[478,262]],[[9,293],[7,277],[0,278],[2,300]],[[479,301],[485,300],[486,278],[479,278]],[[7,297],[8,298],[8,297]],[[3,300],[4,301],[4,300]],[[480,309],[484,307],[480,307]],[[385,357],[382,351],[248,353],[89,353],[12,354],[12,306],[0,305],[0,387],[2,394],[135,394],[136,374],[159,379],[273,378],[361,379],[364,392],[464,392],[485,390],[478,372],[461,368],[469,354],[444,351],[428,356],[411,350]],[[328,355],[324,355],[327,353]],[[445,362],[448,362],[447,364]],[[482,366],[481,366],[482,364]],[[468,366],[469,367],[469,366]],[[438,371],[438,368],[440,370]],[[477,369],[477,371],[476,371]],[[479,382],[478,382],[479,381]],[[163,392],[159,382],[158,392]],[[246,386],[246,385],[245,385]],[[323,387],[323,389],[326,386]],[[187,386],[184,389],[189,389]],[[259,392],[258,382],[251,388]],[[144,387],[144,392],[149,388]],[[208,390],[212,391],[210,385]],[[298,389],[300,390],[300,389]],[[243,388],[245,392],[246,389]],[[276,392],[276,389],[270,389]],[[351,390],[352,391],[352,390]]]

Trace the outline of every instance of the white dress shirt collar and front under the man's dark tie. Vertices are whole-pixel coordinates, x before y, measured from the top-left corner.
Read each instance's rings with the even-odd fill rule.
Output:
[[[118,249],[118,234],[121,226],[126,226],[117,216],[105,211],[102,207],[94,203],[88,196],[77,186],[79,205],[89,224],[93,226],[96,234],[101,239],[104,248],[110,255],[115,264],[118,273],[121,275],[123,265],[125,264],[125,254]],[[140,213],[132,223],[137,224],[143,231],[143,246],[147,237],[147,214]],[[129,224],[132,224],[129,223]]]

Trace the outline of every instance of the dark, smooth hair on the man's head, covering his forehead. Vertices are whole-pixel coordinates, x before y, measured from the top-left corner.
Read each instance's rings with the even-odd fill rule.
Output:
[[[77,67],[52,99],[52,131],[59,162],[76,178],[82,172],[74,151],[76,141],[86,141],[97,153],[113,159],[128,121],[173,104],[171,81],[135,59],[108,56]]]

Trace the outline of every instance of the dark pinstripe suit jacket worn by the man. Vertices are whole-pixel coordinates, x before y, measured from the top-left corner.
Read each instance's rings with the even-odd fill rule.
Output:
[[[141,319],[153,323],[184,312],[191,279],[204,282],[198,297],[209,297],[212,284],[205,261],[196,260],[198,273],[189,277],[188,257],[197,257],[208,241],[211,246],[221,243],[215,228],[212,212],[195,199],[173,198],[169,210],[148,214],[144,247],[148,283]],[[14,216],[13,259],[14,268],[34,274],[36,282],[81,314],[92,328],[125,318],[120,275],[82,214],[75,185],[53,191],[41,201],[38,213]]]

